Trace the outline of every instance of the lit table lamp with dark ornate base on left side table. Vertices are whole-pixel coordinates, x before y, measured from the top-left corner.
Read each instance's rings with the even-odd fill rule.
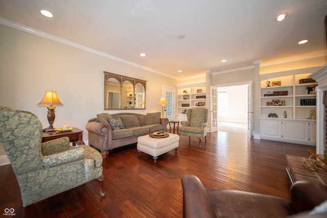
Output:
[[[56,117],[56,115],[55,115],[56,107],[54,105],[57,105],[57,106],[63,105],[63,104],[61,104],[61,102],[58,99],[57,92],[53,91],[53,90],[45,91],[45,95],[44,95],[42,101],[40,103],[38,103],[37,105],[46,106],[48,108],[48,115],[46,115],[46,117],[48,118],[48,122],[49,122],[50,126],[48,128],[45,128],[44,131],[45,132],[55,131],[55,129],[52,126],[53,122],[55,121],[55,117]]]

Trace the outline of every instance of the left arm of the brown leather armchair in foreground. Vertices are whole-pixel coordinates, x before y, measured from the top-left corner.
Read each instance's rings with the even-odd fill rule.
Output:
[[[194,175],[183,175],[183,217],[216,217],[201,181]]]

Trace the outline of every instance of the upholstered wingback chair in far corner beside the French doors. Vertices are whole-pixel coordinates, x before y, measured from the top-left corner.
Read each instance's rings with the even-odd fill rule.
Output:
[[[206,143],[206,123],[208,119],[208,109],[191,108],[187,110],[187,121],[181,121],[181,127],[178,128],[179,135],[189,136],[189,144],[191,137],[199,139],[199,147],[201,148],[201,139],[205,137]]]

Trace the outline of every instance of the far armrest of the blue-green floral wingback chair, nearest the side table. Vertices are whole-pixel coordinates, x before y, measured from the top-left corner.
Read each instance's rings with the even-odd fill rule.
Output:
[[[50,141],[45,141],[41,143],[42,155],[52,155],[56,153],[60,153],[63,151],[67,151],[71,148],[69,144],[68,137],[56,138]]]

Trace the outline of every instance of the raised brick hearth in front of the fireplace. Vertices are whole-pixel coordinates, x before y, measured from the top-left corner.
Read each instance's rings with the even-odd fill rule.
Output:
[[[318,180],[321,183],[327,185],[327,172],[319,170],[309,171],[302,164],[303,161],[308,160],[309,157],[298,157],[292,155],[286,155],[287,167],[286,171],[294,183],[299,180]]]

